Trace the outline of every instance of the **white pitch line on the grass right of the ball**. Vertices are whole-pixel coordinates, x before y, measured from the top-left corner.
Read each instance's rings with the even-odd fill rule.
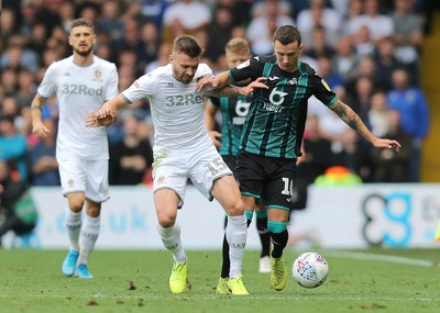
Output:
[[[406,264],[406,265],[415,265],[415,266],[422,266],[422,267],[439,267],[439,265],[436,261],[431,261],[431,260],[413,259],[413,258],[388,256],[388,255],[375,255],[375,254],[342,251],[342,250],[329,251],[326,255],[329,255],[332,257],[344,257],[344,258],[362,259],[362,260],[365,260],[365,259],[378,260],[378,261]]]

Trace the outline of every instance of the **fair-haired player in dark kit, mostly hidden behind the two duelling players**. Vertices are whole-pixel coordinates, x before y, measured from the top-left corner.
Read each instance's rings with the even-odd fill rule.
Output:
[[[244,38],[232,38],[226,45],[226,58],[229,68],[234,68],[246,62],[251,57],[249,43]],[[250,98],[239,97],[210,97],[205,107],[205,122],[207,124],[208,134],[210,135],[216,147],[219,149],[221,157],[228,167],[234,172],[237,166],[237,153],[240,148],[240,138],[243,128],[244,119],[251,104]],[[222,118],[221,133],[215,131],[216,113],[220,111]],[[220,139],[221,138],[221,139]],[[257,205],[256,227],[258,230],[262,243],[262,253],[260,259],[260,272],[271,272],[271,238],[267,233],[267,211],[264,205]],[[249,214],[250,213],[250,214]],[[246,211],[248,225],[252,222],[253,211]],[[226,219],[224,225],[227,225]],[[222,247],[222,266],[219,283],[216,292],[219,294],[228,294],[229,281],[229,244],[227,237],[223,238]]]

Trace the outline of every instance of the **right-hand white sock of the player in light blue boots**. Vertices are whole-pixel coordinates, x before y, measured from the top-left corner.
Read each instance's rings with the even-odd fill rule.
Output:
[[[86,214],[84,227],[80,236],[80,249],[78,264],[87,264],[89,254],[94,250],[95,244],[99,236],[99,230],[101,226],[101,216],[90,217]]]

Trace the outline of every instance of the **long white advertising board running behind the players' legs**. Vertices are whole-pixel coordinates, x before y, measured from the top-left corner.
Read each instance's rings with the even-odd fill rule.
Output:
[[[41,248],[67,247],[59,188],[33,188],[40,213],[35,241]],[[186,249],[220,249],[224,213],[188,186],[178,212]],[[306,210],[295,211],[289,234],[309,235],[326,248],[429,247],[440,221],[440,185],[362,185],[310,187]],[[97,249],[162,249],[153,192],[148,187],[112,187],[103,204]],[[307,243],[306,243],[307,244]],[[260,248],[254,223],[248,248]]]

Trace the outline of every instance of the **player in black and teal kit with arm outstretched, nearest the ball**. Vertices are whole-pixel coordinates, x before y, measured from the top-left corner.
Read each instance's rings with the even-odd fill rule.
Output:
[[[266,78],[268,89],[253,92],[238,154],[237,176],[245,210],[253,209],[255,199],[263,199],[268,208],[267,224],[273,244],[271,284],[280,291],[287,278],[283,251],[288,239],[290,190],[296,160],[300,156],[308,98],[315,96],[373,146],[398,152],[400,144],[374,136],[326,81],[308,64],[299,60],[302,44],[295,26],[278,27],[273,45],[274,55],[254,57],[215,78],[205,78],[198,82],[197,90]]]

